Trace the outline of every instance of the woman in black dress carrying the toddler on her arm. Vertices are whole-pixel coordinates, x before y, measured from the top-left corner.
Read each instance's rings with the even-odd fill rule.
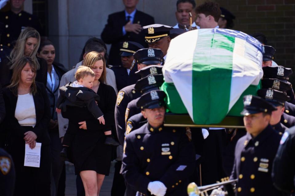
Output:
[[[104,144],[104,131],[114,127],[116,93],[112,86],[104,84],[106,63],[101,54],[89,52],[83,65],[95,73],[92,90],[100,97],[98,107],[104,114],[105,125],[100,124],[86,107],[67,107],[62,116],[69,118],[68,130],[77,130],[71,145],[75,173],[80,174],[86,195],[98,195],[105,175],[110,172],[112,148]]]

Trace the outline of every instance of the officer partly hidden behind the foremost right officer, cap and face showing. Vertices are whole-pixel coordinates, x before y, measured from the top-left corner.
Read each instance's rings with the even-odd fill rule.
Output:
[[[282,135],[288,128],[281,123],[281,116],[285,110],[285,102],[288,101],[290,97],[272,88],[260,89],[257,91],[257,94],[277,108],[277,110],[272,112],[269,124]]]

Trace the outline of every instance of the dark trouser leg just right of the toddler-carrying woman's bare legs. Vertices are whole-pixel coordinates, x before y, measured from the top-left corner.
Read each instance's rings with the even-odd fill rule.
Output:
[[[126,191],[125,179],[123,175],[120,174],[122,166],[122,161],[117,161],[115,163],[115,173],[112,184],[111,196],[124,196]]]

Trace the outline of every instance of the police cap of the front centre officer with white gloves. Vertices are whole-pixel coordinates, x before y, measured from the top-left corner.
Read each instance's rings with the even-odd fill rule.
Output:
[[[143,94],[137,101],[136,106],[142,109],[154,109],[165,106],[166,94],[162,90],[152,90]]]

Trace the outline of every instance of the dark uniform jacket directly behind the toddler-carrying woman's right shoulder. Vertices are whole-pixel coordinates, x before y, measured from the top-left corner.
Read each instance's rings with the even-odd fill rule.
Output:
[[[131,71],[128,75],[127,69],[122,67],[121,65],[113,66],[111,69],[114,71],[116,77],[116,85],[118,91],[128,85],[135,84],[136,81],[141,78],[140,75],[137,75]]]

